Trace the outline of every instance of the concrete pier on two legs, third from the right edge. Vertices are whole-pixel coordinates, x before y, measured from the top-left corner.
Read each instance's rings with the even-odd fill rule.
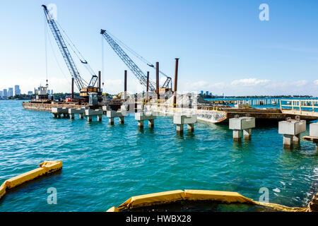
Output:
[[[229,129],[233,131],[233,141],[242,141],[242,131],[244,140],[251,141],[253,128],[255,128],[254,117],[232,118],[229,121]]]

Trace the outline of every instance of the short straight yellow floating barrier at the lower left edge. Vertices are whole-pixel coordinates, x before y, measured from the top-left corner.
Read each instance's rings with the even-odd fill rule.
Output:
[[[45,174],[50,174],[52,172],[56,172],[61,169],[62,162],[61,161],[45,161],[40,164],[40,167],[37,169],[33,169],[29,172],[25,172],[16,177],[12,177],[11,179],[7,179],[0,186],[0,198],[6,194],[6,189],[13,189],[14,187],[33,180],[37,177],[40,177]]]

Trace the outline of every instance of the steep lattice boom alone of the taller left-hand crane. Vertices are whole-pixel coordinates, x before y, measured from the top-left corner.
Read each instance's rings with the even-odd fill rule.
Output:
[[[52,31],[54,39],[57,41],[57,45],[59,46],[59,50],[61,51],[61,54],[66,63],[66,66],[69,69],[71,76],[74,78],[78,90],[81,91],[81,89],[85,88],[86,85],[83,83],[83,79],[81,78],[78,72],[78,69],[76,68],[76,65],[71,57],[71,54],[69,53],[69,49],[67,49],[66,47],[66,44],[61,35],[61,32],[59,31],[59,28],[57,27],[57,23],[55,23],[55,20],[49,15],[47,6],[42,5],[42,7],[44,8],[45,16],[47,18],[47,23],[49,24],[49,28]]]

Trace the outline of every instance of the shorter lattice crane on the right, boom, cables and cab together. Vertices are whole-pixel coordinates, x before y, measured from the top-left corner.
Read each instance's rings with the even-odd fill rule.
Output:
[[[116,54],[119,56],[119,58],[122,59],[122,61],[124,61],[124,63],[126,64],[126,66],[128,66],[128,68],[131,70],[131,72],[134,73],[134,75],[136,76],[136,78],[138,78],[141,85],[144,85],[146,87],[147,86],[147,76],[141,71],[141,69],[139,69],[139,67],[134,63],[134,61],[131,60],[131,58],[126,54],[126,52],[124,52],[122,47],[120,47],[119,44],[117,44],[117,42],[114,41],[114,38],[113,38],[114,35],[112,35],[112,37],[111,37],[110,32],[107,32],[106,30],[100,30],[100,34],[103,37],[105,37],[105,40],[108,42],[108,44],[110,44],[110,47],[112,47],[112,49],[114,49],[114,52],[116,52]],[[117,40],[117,41],[119,41],[119,40]],[[126,45],[124,43],[122,43],[122,45],[124,47],[126,47]],[[139,54],[134,52],[134,50],[130,49],[129,47],[126,47],[126,49],[128,49],[129,52],[131,52],[136,57],[138,57],[143,62],[145,62],[148,66],[155,69],[155,66],[153,66],[153,64],[151,64],[149,61],[146,61],[146,59],[144,59]],[[163,84],[163,86],[158,91],[160,93],[171,91],[172,90],[171,78],[169,76],[167,76],[165,73],[163,73],[162,71],[159,71],[159,73],[161,73],[163,76],[167,77],[167,79],[166,79],[165,83]],[[148,87],[149,87],[150,91],[156,90],[155,83],[153,83],[152,81],[149,81]]]

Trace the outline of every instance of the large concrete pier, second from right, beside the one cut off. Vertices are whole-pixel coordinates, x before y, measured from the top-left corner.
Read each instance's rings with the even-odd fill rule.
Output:
[[[293,145],[300,144],[300,133],[306,131],[305,120],[293,120],[279,121],[278,133],[283,134],[283,147],[293,148]]]

